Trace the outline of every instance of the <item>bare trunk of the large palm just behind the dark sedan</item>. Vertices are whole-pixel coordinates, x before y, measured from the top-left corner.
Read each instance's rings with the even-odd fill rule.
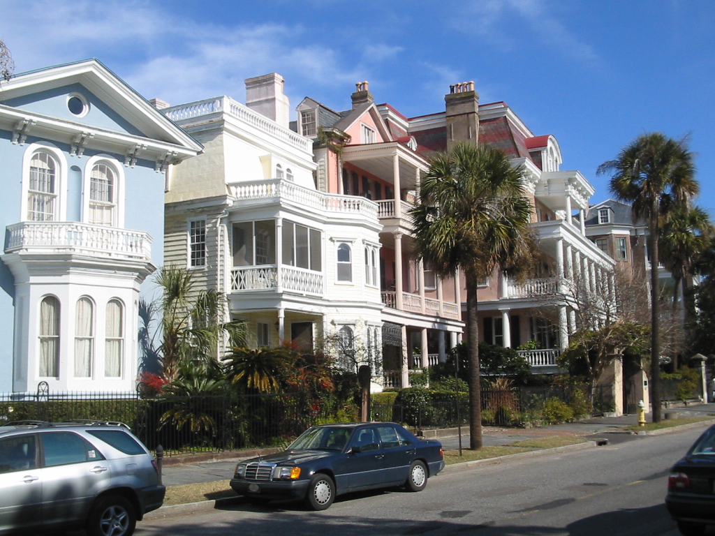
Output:
[[[468,271],[467,286],[467,334],[469,349],[469,448],[482,447],[482,394],[479,369],[479,318],[477,307],[477,278]]]

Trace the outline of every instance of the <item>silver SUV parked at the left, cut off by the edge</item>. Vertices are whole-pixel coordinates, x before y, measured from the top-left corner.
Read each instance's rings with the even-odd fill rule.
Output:
[[[119,422],[0,426],[0,533],[129,536],[164,502],[157,463]]]

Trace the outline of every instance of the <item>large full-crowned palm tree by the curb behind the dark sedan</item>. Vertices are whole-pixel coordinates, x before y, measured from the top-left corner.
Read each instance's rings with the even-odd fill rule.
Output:
[[[516,269],[530,256],[522,174],[498,149],[457,144],[435,157],[410,211],[418,257],[441,276],[460,269],[465,277],[473,450],[482,446],[477,287],[498,267]]]

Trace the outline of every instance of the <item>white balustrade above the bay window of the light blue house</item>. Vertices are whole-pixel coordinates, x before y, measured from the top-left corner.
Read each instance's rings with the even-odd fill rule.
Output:
[[[142,231],[78,222],[22,222],[7,227],[6,253],[82,253],[120,259],[149,260],[152,238]]]

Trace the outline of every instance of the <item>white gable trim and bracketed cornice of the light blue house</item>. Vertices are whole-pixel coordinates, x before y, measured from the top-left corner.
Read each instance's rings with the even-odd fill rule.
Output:
[[[34,129],[54,131],[60,135],[71,134],[72,131],[89,131],[97,142],[102,139],[109,141],[112,137],[115,142],[122,145],[136,142],[138,145],[147,145],[149,152],[153,150],[157,154],[171,153],[174,161],[202,151],[203,147],[199,142],[167,119],[161,111],[149,104],[147,99],[97,59],[16,74],[0,85],[0,102],[8,102],[72,84],[80,84],[91,91],[97,99],[109,106],[115,114],[141,134],[94,128],[81,121],[58,119],[7,104],[0,104],[0,119],[6,121],[29,119],[35,121]]]

